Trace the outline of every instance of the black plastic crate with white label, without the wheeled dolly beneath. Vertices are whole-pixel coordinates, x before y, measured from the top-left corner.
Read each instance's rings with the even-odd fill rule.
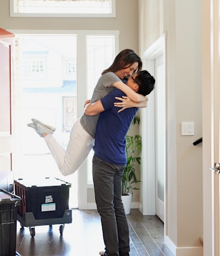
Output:
[[[45,178],[37,182],[24,179],[14,181],[15,194],[22,199],[18,213],[32,212],[36,220],[61,218],[69,209],[70,183],[58,178]]]

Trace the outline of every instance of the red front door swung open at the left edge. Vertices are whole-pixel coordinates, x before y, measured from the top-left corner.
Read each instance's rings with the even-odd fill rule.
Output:
[[[14,35],[0,29],[0,176],[13,170],[11,90],[13,87]],[[14,132],[13,132],[14,134]]]

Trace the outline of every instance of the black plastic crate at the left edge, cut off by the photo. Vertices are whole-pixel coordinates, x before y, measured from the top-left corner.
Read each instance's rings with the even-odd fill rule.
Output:
[[[0,188],[0,256],[19,255],[16,252],[17,212],[21,198]]]

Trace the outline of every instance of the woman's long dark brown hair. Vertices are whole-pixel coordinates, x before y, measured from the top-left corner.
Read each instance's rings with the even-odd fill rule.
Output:
[[[112,65],[104,70],[102,74],[107,72],[116,72],[122,70],[123,68],[128,68],[133,65],[134,62],[138,62],[138,68],[133,73],[141,71],[142,61],[138,54],[131,49],[124,49],[119,52]]]

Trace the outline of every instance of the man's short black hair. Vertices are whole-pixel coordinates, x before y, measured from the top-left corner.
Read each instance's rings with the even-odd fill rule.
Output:
[[[135,77],[135,81],[139,85],[137,93],[144,96],[150,94],[150,92],[155,88],[155,78],[146,70],[140,71],[138,76]]]

